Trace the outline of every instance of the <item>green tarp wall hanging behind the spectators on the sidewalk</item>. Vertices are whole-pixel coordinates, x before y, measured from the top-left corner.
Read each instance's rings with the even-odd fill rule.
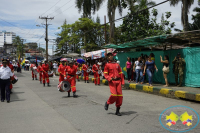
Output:
[[[169,83],[175,83],[175,75],[173,73],[173,64],[172,61],[177,56],[177,53],[181,53],[182,58],[185,59],[186,65],[184,69],[184,80],[183,84],[189,87],[200,87],[200,47],[193,47],[193,48],[184,48],[184,49],[173,49],[167,51],[140,51],[140,52],[125,52],[125,53],[117,53],[116,58],[120,61],[120,66],[123,69],[126,64],[127,57],[137,58],[141,56],[141,54],[150,55],[150,53],[154,53],[155,55],[155,64],[158,68],[158,72],[154,73],[153,82],[154,83],[162,83],[164,84],[163,78],[163,63],[160,62],[160,55],[164,57],[164,55],[169,56],[169,68],[170,73],[168,74]],[[126,71],[123,70],[123,73],[127,77]],[[148,80],[148,77],[147,77]]]

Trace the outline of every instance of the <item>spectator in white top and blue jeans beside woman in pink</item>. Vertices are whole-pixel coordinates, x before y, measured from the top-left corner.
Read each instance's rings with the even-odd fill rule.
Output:
[[[143,61],[141,60],[141,57],[139,57],[133,66],[133,71],[136,73],[136,84],[138,84],[138,80],[141,82],[141,84],[144,82],[143,66]]]

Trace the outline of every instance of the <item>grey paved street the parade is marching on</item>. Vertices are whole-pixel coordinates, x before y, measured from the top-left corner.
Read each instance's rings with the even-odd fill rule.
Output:
[[[199,103],[157,95],[123,91],[123,116],[114,115],[115,106],[104,110],[108,86],[77,82],[78,98],[57,90],[58,77],[51,87],[32,81],[30,72],[17,74],[11,103],[0,103],[0,133],[168,133],[159,123],[166,108],[185,105],[200,114]],[[188,133],[199,133],[200,124]]]

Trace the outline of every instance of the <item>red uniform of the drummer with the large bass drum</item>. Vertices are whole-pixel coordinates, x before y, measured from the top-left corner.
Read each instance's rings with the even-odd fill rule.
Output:
[[[67,66],[65,69],[65,72],[67,72],[67,81],[71,85],[71,89],[69,90],[69,92],[71,92],[71,90],[72,92],[76,92],[76,71],[77,68],[74,65],[72,67]]]

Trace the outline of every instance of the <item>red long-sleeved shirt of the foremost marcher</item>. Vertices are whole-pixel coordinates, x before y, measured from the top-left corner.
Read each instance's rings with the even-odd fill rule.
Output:
[[[124,76],[120,65],[116,62],[109,62],[104,68],[104,77],[111,81],[112,78],[121,78],[122,84],[124,84]]]

